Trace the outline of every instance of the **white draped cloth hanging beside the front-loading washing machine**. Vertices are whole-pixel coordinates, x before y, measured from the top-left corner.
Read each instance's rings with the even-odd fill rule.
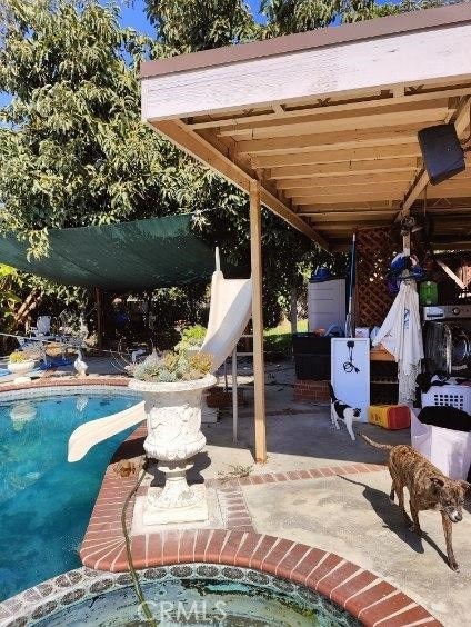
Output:
[[[398,362],[399,404],[411,405],[415,397],[415,379],[423,358],[419,295],[413,280],[402,280],[399,293],[389,310],[373,345],[382,344]]]

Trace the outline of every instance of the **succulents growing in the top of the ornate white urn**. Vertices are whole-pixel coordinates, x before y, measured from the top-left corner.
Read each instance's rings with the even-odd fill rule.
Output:
[[[166,351],[152,354],[133,369],[133,376],[143,381],[172,384],[202,379],[211,372],[212,356],[203,352],[186,355]]]

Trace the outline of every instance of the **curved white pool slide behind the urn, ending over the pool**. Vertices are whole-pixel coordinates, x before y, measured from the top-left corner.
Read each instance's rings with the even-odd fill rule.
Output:
[[[219,263],[218,263],[219,265]],[[213,356],[213,371],[232,354],[252,316],[252,280],[224,279],[216,270],[211,279],[208,330],[201,350]],[[146,419],[144,402],[112,416],[80,425],[69,438],[69,461],[78,461],[98,442]]]

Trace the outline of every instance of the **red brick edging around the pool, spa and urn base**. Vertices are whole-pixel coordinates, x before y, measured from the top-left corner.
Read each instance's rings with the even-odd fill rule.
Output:
[[[112,461],[141,455],[146,427],[140,426],[118,449]],[[242,485],[321,479],[333,475],[382,470],[368,464],[332,466],[287,474],[253,475],[209,480],[222,497],[224,528],[187,529],[131,536],[134,566],[146,568],[171,564],[212,563],[254,568],[284,577],[320,593],[344,607],[367,627],[405,627],[439,623],[423,607],[372,573],[322,549],[284,538],[255,533],[251,525]],[[126,497],[136,485],[136,477],[121,478],[112,465],[104,475],[89,527],[80,550],[84,566],[99,570],[129,569],[120,516]],[[146,487],[140,488],[144,494]],[[128,509],[128,528],[133,502]]]

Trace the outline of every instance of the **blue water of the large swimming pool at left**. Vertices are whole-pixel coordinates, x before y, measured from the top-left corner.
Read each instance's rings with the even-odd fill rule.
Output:
[[[69,436],[138,401],[108,392],[0,405],[0,600],[80,566],[78,549],[104,469],[128,432],[74,464],[67,461]]]

